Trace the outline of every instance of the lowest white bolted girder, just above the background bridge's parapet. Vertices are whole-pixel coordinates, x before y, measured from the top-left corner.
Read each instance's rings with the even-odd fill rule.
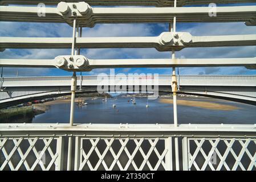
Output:
[[[82,55],[58,56],[55,59],[0,59],[0,67],[60,68],[66,71],[91,71],[95,68],[133,67],[231,67],[256,69],[256,57],[229,59],[88,59]]]

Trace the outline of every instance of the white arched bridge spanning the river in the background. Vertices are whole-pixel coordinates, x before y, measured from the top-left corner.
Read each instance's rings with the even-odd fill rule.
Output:
[[[78,76],[76,92],[172,92],[168,75]],[[256,76],[177,77],[179,93],[223,98],[256,105]],[[1,106],[70,94],[70,76],[6,77],[1,80]]]

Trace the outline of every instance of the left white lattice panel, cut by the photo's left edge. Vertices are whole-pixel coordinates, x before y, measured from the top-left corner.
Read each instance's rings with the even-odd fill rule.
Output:
[[[62,142],[62,137],[0,138],[0,170],[60,170]]]

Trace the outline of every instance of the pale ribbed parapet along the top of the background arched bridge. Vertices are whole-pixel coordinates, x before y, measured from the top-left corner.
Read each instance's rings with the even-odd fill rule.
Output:
[[[1,79],[1,78],[0,78]],[[180,85],[188,86],[256,86],[255,75],[180,75],[178,76]],[[152,76],[78,76],[77,84],[84,86],[95,85],[170,85],[172,77],[169,75]],[[50,76],[50,77],[6,77],[2,78],[3,87],[14,86],[68,86],[71,77],[69,76]]]

